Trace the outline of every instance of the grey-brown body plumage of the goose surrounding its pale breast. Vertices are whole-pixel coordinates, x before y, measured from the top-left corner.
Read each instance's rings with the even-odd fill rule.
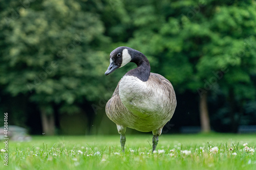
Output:
[[[112,98],[106,104],[105,109],[106,115],[108,115],[114,123],[141,132],[150,132],[163,127],[170,118],[172,118],[176,108],[176,95],[172,84],[163,76],[151,73],[149,79],[144,82],[147,85],[147,89],[144,90],[143,93],[141,93],[141,91],[130,91],[131,96],[134,95],[135,97],[137,96],[137,98],[141,97],[140,100],[134,99],[135,101],[142,101],[146,97],[154,96],[154,92],[162,91],[163,97],[160,100],[163,105],[153,113],[144,109],[138,114],[130,111],[123,105],[119,95],[119,84],[121,80],[119,81]],[[140,95],[138,95],[138,93],[140,93]]]

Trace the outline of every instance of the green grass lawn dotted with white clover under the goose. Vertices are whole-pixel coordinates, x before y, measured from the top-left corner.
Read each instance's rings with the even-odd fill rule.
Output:
[[[256,135],[163,134],[154,154],[148,134],[126,135],[125,153],[117,135],[33,136],[29,142],[9,140],[8,167],[1,152],[0,169],[256,169],[256,152],[244,150],[244,143],[254,148]],[[210,151],[214,147],[218,152]]]

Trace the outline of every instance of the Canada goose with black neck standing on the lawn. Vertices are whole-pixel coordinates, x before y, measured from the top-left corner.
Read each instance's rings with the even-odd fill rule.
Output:
[[[164,125],[172,118],[176,108],[176,95],[172,84],[163,76],[150,72],[150,63],[141,52],[120,46],[110,54],[110,65],[105,75],[129,62],[137,64],[119,81],[112,98],[106,104],[106,115],[117,125],[124,152],[126,127],[153,132],[153,150]]]

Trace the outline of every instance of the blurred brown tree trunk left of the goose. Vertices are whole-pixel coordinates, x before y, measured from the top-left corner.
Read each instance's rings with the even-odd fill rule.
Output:
[[[55,134],[54,114],[47,114],[46,109],[44,107],[41,107],[41,123],[42,123],[42,134],[45,134],[45,135]]]

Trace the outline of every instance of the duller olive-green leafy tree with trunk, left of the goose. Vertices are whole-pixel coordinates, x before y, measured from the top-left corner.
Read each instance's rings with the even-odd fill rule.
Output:
[[[1,13],[0,84],[36,103],[43,132],[51,135],[55,105],[58,113],[80,112],[84,99],[97,100],[105,90],[103,49],[110,41],[97,14],[82,11],[76,1],[35,3],[3,3],[11,8]]]

